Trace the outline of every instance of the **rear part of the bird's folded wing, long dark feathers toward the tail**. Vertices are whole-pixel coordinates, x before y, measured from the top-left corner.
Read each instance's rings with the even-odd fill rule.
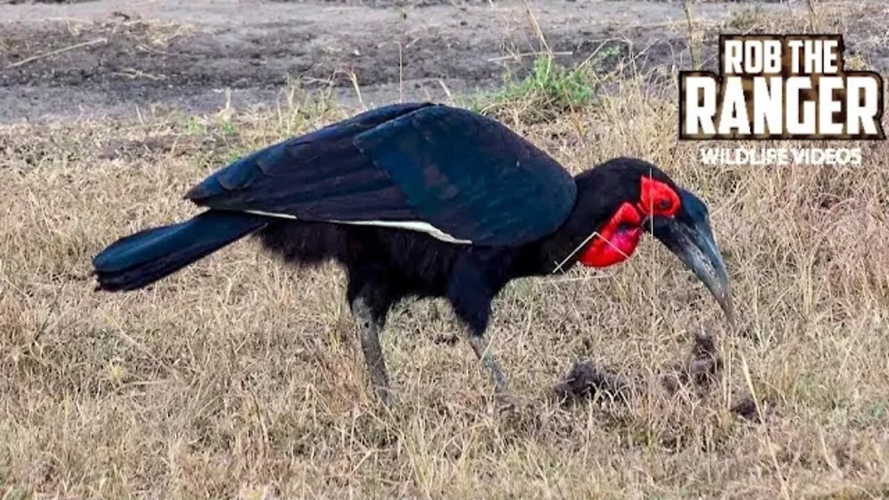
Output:
[[[238,159],[188,191],[197,205],[310,221],[415,217],[397,186],[353,144],[424,104],[396,104],[349,118]]]

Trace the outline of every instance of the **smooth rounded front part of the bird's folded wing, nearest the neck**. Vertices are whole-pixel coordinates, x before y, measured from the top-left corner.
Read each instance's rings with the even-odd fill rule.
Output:
[[[436,106],[356,137],[436,228],[478,245],[516,246],[565,222],[576,186],[562,165],[509,128]]]

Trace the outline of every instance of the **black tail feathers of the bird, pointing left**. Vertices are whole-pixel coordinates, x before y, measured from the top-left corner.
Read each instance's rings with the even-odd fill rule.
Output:
[[[209,210],[186,222],[118,239],[92,259],[99,288],[135,290],[265,226],[261,215]]]

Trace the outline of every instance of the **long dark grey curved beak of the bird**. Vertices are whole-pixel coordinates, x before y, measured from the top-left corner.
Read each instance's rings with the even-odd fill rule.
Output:
[[[682,209],[674,217],[653,216],[645,221],[645,230],[651,231],[654,238],[658,238],[701,279],[719,302],[729,324],[734,326],[732,286],[710,230],[707,206],[685,190],[679,190],[679,198],[682,199]]]

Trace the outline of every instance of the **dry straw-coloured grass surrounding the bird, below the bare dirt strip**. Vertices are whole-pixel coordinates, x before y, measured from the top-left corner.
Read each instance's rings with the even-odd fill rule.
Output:
[[[704,167],[672,99],[623,81],[555,122],[509,122],[573,171],[645,157],[711,206],[741,328],[648,240],[629,263],[513,283],[490,332],[517,415],[494,411],[443,302],[392,314],[398,403],[366,388],[340,270],[244,241],[150,290],[96,294],[113,239],[188,217],[180,194],[233,155],[347,114],[165,116],[0,135],[4,498],[877,498],[889,496],[889,148],[862,167]],[[506,115],[509,117],[509,114]],[[709,391],[661,388],[693,333]],[[577,359],[637,381],[629,405],[562,407]],[[765,423],[729,408],[755,390]],[[0,489],[2,492],[2,489]]]

